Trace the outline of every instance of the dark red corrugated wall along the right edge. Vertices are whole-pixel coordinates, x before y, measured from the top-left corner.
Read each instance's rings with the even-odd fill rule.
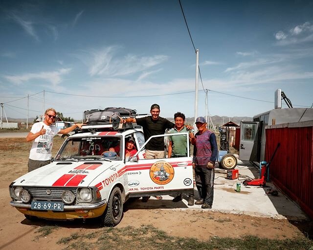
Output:
[[[313,127],[266,129],[270,179],[313,219]]]

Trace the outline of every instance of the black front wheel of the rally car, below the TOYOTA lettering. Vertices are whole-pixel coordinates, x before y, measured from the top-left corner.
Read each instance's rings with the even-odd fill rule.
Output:
[[[114,227],[121,221],[123,216],[123,199],[119,187],[113,188],[103,216],[103,224],[105,227]]]

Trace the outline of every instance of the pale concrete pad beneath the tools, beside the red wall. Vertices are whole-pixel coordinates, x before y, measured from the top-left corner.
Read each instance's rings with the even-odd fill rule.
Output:
[[[276,187],[267,182],[267,187],[244,186],[242,182],[247,178],[259,178],[259,169],[249,162],[238,160],[235,169],[239,170],[239,179],[226,179],[226,170],[216,169],[214,181],[214,201],[212,209],[202,209],[201,205],[188,206],[188,197],[177,203],[172,202],[174,197],[162,196],[162,200],[151,197],[148,202],[143,203],[141,199],[126,205],[126,209],[194,209],[201,211],[218,211],[224,213],[245,214],[257,217],[269,217],[275,219],[307,220],[308,217],[288,197],[278,190],[278,196],[266,194],[268,188]],[[236,192],[236,184],[241,182],[241,192]],[[198,191],[195,189],[195,198],[199,199]]]

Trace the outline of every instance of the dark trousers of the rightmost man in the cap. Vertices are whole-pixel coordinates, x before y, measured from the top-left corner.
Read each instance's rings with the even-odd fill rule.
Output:
[[[200,199],[203,199],[204,203],[207,203],[208,205],[213,205],[214,176],[214,168],[207,169],[206,167],[195,167],[196,186]]]

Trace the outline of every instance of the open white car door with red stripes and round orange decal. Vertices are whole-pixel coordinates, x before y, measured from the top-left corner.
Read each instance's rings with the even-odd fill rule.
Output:
[[[144,151],[145,145],[154,137],[151,136],[137,152]],[[136,155],[126,162],[128,188],[130,197],[165,195],[179,193],[191,194],[194,190],[192,159],[189,150],[188,133],[171,134],[170,136],[186,136],[187,156],[164,159],[138,159]]]

